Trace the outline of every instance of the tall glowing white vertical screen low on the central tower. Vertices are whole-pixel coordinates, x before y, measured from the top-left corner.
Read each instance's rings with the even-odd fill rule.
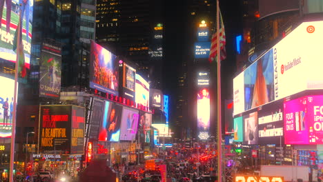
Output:
[[[197,131],[199,139],[206,140],[210,128],[210,93],[208,88],[197,92]]]

